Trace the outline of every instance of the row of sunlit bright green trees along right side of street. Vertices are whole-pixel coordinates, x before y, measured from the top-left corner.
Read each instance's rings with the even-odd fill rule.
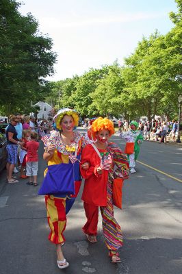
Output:
[[[176,3],[178,12],[170,12],[174,23],[170,32],[161,35],[155,30],[143,37],[124,66],[114,62],[62,81],[63,106],[76,108],[82,116],[151,119],[165,114],[168,119],[177,118],[182,90],[182,1]]]

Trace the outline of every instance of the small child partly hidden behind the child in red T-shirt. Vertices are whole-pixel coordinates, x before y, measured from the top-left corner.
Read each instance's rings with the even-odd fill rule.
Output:
[[[27,175],[23,174],[23,171],[26,167],[26,154],[27,154],[27,142],[31,140],[30,139],[30,130],[29,129],[23,129],[22,132],[22,142],[23,145],[21,145],[21,153],[20,153],[20,162],[21,162],[21,175],[20,177],[22,179],[27,178]]]

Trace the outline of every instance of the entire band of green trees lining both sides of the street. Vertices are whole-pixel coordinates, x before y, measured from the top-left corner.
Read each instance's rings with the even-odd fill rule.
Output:
[[[143,37],[123,66],[116,61],[81,76],[45,82],[56,61],[51,38],[38,33],[34,16],[18,12],[21,3],[1,0],[1,111],[23,111],[31,100],[44,99],[55,109],[75,108],[83,117],[177,118],[177,98],[182,93],[182,1],[175,2],[172,29],[165,35],[155,30]]]

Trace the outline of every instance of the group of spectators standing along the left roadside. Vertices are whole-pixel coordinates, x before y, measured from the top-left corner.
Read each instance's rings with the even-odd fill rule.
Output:
[[[34,116],[21,114],[10,115],[9,124],[5,128],[8,151],[6,165],[8,183],[18,182],[18,179],[14,177],[13,173],[18,173],[19,171],[21,172],[20,177],[22,179],[27,177],[31,178],[30,164],[26,162],[26,160],[29,159],[28,162],[31,162],[32,165],[32,178],[34,178],[34,184],[33,182],[32,184],[34,186],[38,185],[36,182],[36,173],[38,171],[37,140],[40,139],[43,134],[49,133],[52,129],[53,123],[51,120],[36,119]],[[28,172],[26,170],[27,166],[29,168]],[[24,173],[25,171],[26,173]]]

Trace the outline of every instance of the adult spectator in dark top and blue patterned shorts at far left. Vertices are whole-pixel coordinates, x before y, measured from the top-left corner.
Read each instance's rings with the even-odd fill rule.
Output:
[[[20,142],[17,138],[17,132],[15,126],[18,123],[18,118],[15,115],[12,115],[10,118],[10,123],[8,128],[5,131],[7,138],[7,151],[8,151],[8,162],[6,164],[6,169],[8,172],[8,183],[14,184],[18,183],[18,180],[12,177],[14,166],[18,160],[18,145],[23,145],[23,142]]]

